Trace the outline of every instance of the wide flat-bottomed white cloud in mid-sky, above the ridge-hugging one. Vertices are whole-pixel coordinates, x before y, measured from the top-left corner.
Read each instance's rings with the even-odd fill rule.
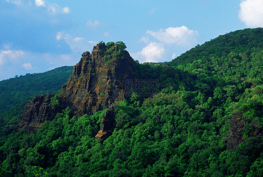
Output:
[[[167,29],[160,29],[159,31],[147,30],[146,34],[150,34],[161,42],[167,44],[176,44],[183,46],[192,46],[196,43],[198,32],[189,30],[186,26],[169,27]]]

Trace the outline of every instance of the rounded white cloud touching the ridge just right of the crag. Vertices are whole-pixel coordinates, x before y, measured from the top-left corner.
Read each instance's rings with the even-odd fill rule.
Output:
[[[151,42],[141,52],[133,53],[131,56],[141,62],[158,62],[164,55],[164,44]]]

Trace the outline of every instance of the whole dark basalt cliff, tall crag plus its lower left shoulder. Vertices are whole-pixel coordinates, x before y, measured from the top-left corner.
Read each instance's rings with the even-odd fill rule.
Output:
[[[104,110],[112,103],[118,104],[124,100],[127,91],[124,87],[125,82],[136,79],[133,67],[135,61],[126,50],[120,51],[117,43],[111,48],[113,54],[122,52],[121,57],[116,57],[117,53],[115,57],[107,55],[106,60],[105,54],[109,52],[104,43],[94,46],[91,54],[88,51],[82,54],[79,63],[73,68],[72,76],[57,95],[59,106],[53,110],[53,114],[49,108],[52,95],[39,95],[28,102],[17,126],[17,132],[21,129],[35,132],[45,120],[52,120],[54,114],[67,107],[75,116],[80,117]]]

